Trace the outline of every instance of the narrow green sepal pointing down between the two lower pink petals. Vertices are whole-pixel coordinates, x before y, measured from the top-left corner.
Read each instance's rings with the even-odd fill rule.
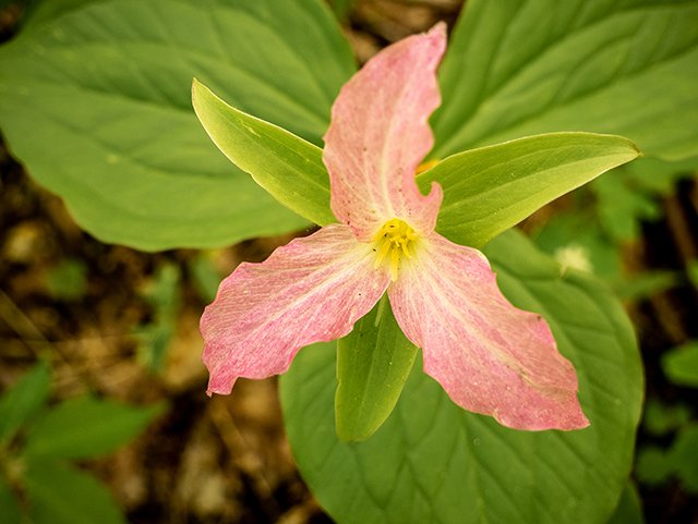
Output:
[[[412,369],[417,346],[397,325],[387,294],[337,342],[337,435],[364,440],[383,424]]]

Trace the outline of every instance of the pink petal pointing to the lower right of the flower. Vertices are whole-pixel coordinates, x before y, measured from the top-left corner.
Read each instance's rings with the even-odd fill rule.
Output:
[[[588,426],[571,363],[540,315],[506,301],[484,255],[438,233],[413,251],[388,289],[390,305],[453,401],[516,429]]]

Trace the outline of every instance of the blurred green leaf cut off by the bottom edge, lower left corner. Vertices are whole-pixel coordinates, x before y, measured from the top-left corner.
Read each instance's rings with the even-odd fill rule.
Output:
[[[111,493],[88,473],[35,460],[24,485],[32,524],[127,524]]]

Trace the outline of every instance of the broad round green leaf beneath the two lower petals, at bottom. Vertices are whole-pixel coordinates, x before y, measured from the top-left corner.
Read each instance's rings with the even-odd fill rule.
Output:
[[[559,266],[518,233],[488,255],[504,294],[542,314],[579,377],[591,425],[517,431],[456,406],[417,369],[394,412],[363,442],[334,428],[334,344],[309,346],[281,378],[301,474],[338,524],[605,523],[633,460],[642,375],[633,328],[592,277]]]

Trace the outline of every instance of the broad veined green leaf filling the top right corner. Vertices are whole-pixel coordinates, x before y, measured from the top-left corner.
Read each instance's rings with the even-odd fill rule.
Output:
[[[698,154],[696,0],[469,0],[440,69],[434,158],[519,136]]]

